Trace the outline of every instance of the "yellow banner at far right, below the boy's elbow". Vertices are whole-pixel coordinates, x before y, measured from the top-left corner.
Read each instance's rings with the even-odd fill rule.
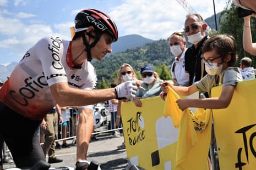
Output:
[[[212,89],[219,97],[221,87]],[[256,169],[256,80],[239,82],[231,104],[213,110],[220,169]]]

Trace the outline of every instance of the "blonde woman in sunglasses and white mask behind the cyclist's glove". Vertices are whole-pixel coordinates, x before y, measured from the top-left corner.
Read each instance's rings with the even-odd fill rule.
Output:
[[[133,67],[127,63],[124,63],[119,71],[117,78],[115,80],[116,84],[120,84],[123,82],[131,81],[131,80],[137,80],[137,75],[133,71]],[[122,127],[122,120],[121,120],[121,104],[122,102],[129,101],[129,99],[123,99],[119,100],[117,104],[117,119],[116,119],[116,126]],[[121,130],[120,133],[122,134],[123,131]],[[126,149],[126,144],[123,142],[122,145],[117,146],[117,149]]]

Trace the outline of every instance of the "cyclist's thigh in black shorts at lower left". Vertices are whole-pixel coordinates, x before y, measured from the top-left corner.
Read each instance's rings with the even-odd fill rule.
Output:
[[[7,106],[0,113],[0,129],[15,165],[29,168],[40,160],[45,161],[39,141],[41,121],[25,118]]]

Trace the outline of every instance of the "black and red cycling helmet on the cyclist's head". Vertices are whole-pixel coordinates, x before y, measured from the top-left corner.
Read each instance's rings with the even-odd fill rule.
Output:
[[[115,22],[100,10],[84,9],[75,16],[75,32],[86,30],[89,26],[93,26],[96,31],[107,33],[113,38],[113,42],[118,39]]]

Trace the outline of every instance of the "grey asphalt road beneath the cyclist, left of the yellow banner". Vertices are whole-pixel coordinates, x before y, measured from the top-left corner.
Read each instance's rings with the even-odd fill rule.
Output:
[[[91,141],[88,149],[88,160],[97,161],[100,164],[101,169],[127,169],[128,160],[126,155],[126,149],[117,150],[117,146],[121,145],[124,141],[123,137],[113,138],[111,133],[97,134],[96,139]],[[62,141],[59,142],[62,144]],[[72,140],[68,140],[67,143],[72,143]],[[57,158],[63,159],[61,163],[52,163],[51,167],[75,167],[77,147],[72,146],[70,148],[56,150]],[[46,160],[48,158],[46,157]],[[4,164],[3,168],[15,167],[14,163]]]

